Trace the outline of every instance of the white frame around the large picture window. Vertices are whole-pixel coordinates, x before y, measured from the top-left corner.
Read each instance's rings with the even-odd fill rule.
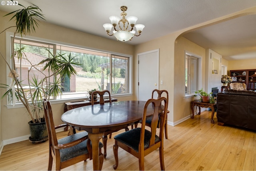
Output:
[[[8,64],[11,64],[11,51],[12,51],[12,41],[11,39],[14,37],[14,33],[13,32],[6,32],[6,61],[8,62]],[[112,55],[116,55],[116,56],[124,56],[126,58],[128,58],[128,85],[129,85],[129,90],[128,93],[122,93],[122,94],[114,94],[111,95],[111,97],[125,97],[125,96],[130,96],[132,95],[132,59],[133,56],[129,55],[129,54],[122,54],[122,53],[118,53],[118,52],[111,52],[111,51],[106,51],[106,50],[100,50],[100,49],[96,49],[96,48],[90,48],[90,47],[85,47],[85,46],[80,46],[80,45],[75,45],[75,44],[70,44],[70,43],[66,43],[66,42],[59,42],[59,41],[54,41],[54,40],[48,40],[48,39],[44,39],[44,38],[38,38],[38,37],[34,37],[34,36],[20,36],[20,35],[16,35],[16,38],[21,38],[21,39],[25,39],[25,40],[29,40],[29,41],[36,41],[36,42],[42,42],[42,43],[47,43],[47,44],[55,44],[55,45],[62,45],[62,46],[70,46],[70,47],[74,47],[74,48],[82,48],[82,49],[88,49],[88,50],[92,50],[92,51],[99,51],[99,52],[103,52],[103,53],[108,53],[110,54],[110,56]],[[6,64],[6,84],[10,85],[10,81],[11,79],[8,78],[8,73],[10,72],[7,64]],[[57,104],[57,103],[64,103],[65,101],[70,101],[70,100],[79,100],[79,99],[84,99],[84,97],[74,97],[74,98],[66,98],[66,99],[52,99],[51,103],[52,104]],[[11,109],[11,108],[19,108],[19,107],[24,107],[24,105],[20,102],[16,103],[15,106],[13,106],[11,103],[9,103],[8,100],[7,101],[7,108]]]

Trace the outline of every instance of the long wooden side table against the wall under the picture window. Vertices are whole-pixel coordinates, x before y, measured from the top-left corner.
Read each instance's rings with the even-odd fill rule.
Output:
[[[111,101],[117,101],[116,98],[111,98]],[[104,99],[105,103],[109,102],[109,99]],[[94,100],[94,104],[99,104],[100,103],[100,99],[96,99]],[[64,106],[64,112],[70,110],[70,109],[74,109],[77,107],[82,107],[82,106],[88,106],[88,105],[92,105],[92,101],[90,100],[80,100],[80,101],[68,101],[65,103]]]

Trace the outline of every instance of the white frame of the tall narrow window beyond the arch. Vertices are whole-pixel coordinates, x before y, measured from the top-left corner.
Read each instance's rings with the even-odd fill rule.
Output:
[[[188,51],[184,53],[184,98],[191,98],[194,97],[195,93],[186,93],[186,56],[192,56],[198,60],[197,89],[202,87],[202,57]]]

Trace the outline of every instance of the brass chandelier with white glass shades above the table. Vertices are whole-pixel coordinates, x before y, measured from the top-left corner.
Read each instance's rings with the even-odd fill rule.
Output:
[[[121,6],[120,9],[122,11],[121,13],[122,19],[120,19],[117,16],[110,16],[109,19],[111,24],[109,23],[103,24],[103,27],[105,28],[107,34],[109,36],[114,35],[117,38],[117,40],[120,40],[122,42],[132,40],[133,36],[140,36],[145,26],[143,24],[136,24],[136,21],[138,20],[137,17],[130,16],[130,17],[127,17],[127,19],[125,18],[125,16],[127,15],[125,12],[127,10],[127,6]],[[117,25],[119,26],[120,30],[116,28]],[[136,27],[136,30],[138,32],[137,35],[135,34],[136,31],[134,30],[134,26]],[[112,27],[114,27],[113,34],[109,34]],[[128,27],[130,30],[128,29]]]

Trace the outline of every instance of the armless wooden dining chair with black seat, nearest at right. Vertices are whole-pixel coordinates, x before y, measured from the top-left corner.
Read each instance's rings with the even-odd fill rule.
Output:
[[[162,107],[161,103],[164,101],[164,111],[163,113],[158,113],[158,108]],[[152,104],[152,105],[150,105]],[[134,128],[114,137],[115,144],[113,146],[113,152],[116,163],[113,165],[114,169],[118,167],[118,147],[121,147],[128,153],[131,153],[139,159],[139,169],[144,170],[144,156],[148,155],[152,151],[159,148],[160,155],[160,166],[161,170],[164,170],[164,124],[165,122],[160,122],[160,134],[156,135],[156,128],[158,125],[158,117],[161,119],[166,119],[167,115],[167,99],[165,97],[160,97],[159,99],[149,99],[144,105],[144,111],[142,115],[142,125],[141,128]],[[147,108],[154,107],[151,118],[150,131],[145,129]]]

